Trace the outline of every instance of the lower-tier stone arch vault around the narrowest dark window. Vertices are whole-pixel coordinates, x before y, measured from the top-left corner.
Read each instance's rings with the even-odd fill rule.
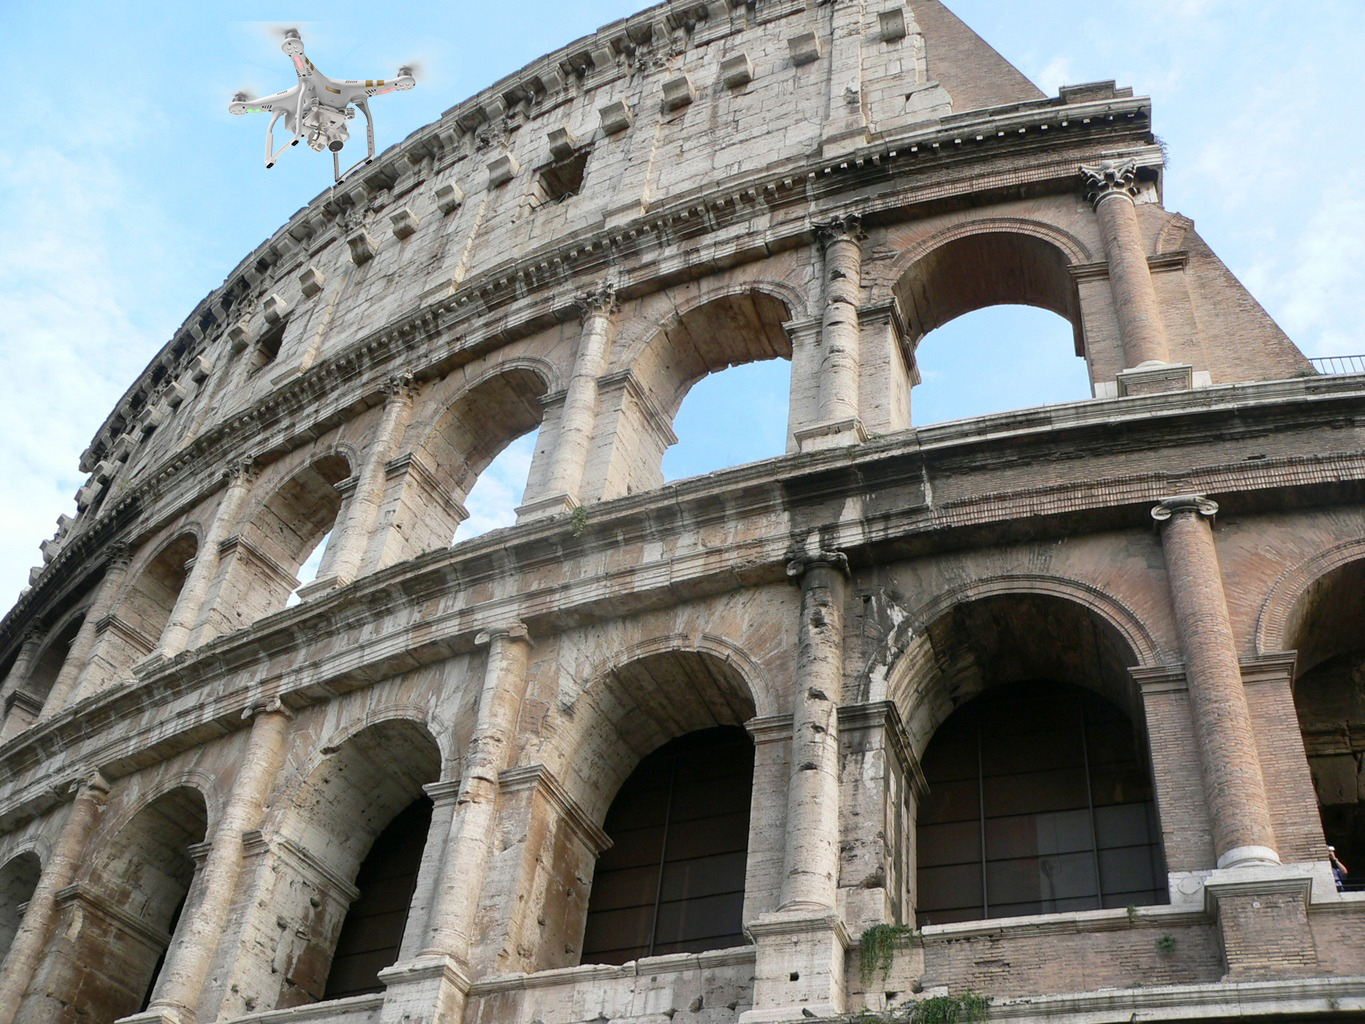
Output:
[[[268,946],[273,956],[248,965],[233,998],[284,1008],[326,997],[337,939],[364,894],[356,887],[362,864],[394,818],[425,800],[423,786],[441,769],[441,745],[427,724],[400,717],[396,707],[334,733],[317,751],[270,815],[272,863],[258,885],[272,886],[274,897],[257,907],[247,927],[274,937]],[[422,844],[426,838],[419,837]],[[277,920],[288,926],[283,938]],[[423,924],[407,920],[405,933]],[[394,952],[388,963],[396,958]]]

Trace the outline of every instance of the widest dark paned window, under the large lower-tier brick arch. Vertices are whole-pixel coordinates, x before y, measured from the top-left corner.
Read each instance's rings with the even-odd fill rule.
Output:
[[[943,724],[923,767],[921,926],[1164,902],[1147,758],[1103,698],[988,692]]]

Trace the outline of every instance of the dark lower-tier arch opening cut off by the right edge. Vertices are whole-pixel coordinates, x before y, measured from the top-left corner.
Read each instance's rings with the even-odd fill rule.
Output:
[[[1290,610],[1294,710],[1339,885],[1365,889],[1365,561],[1319,578]],[[1327,856],[1324,851],[1323,856]]]

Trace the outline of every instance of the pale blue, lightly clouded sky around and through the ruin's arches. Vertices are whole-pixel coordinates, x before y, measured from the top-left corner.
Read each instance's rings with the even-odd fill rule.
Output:
[[[1365,3],[947,3],[1048,94],[1112,78],[1151,96],[1170,152],[1166,206],[1194,218],[1308,355],[1365,352]],[[74,513],[79,455],[136,374],[199,299],[330,184],[330,158],[302,146],[266,171],[265,117],[227,112],[238,89],[292,85],[272,25],[299,26],[334,78],[418,63],[415,90],[371,106],[382,150],[640,7],[0,4],[0,609],[41,561],[57,515]],[[1036,310],[964,317],[924,340],[920,366],[917,425],[1088,397],[1070,328]],[[775,363],[702,381],[678,414],[666,474],[778,455],[786,380]],[[508,522],[528,463],[523,441],[490,467],[460,538]]]

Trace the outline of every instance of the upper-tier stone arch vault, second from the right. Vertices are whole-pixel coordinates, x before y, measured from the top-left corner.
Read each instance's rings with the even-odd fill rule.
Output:
[[[599,385],[597,437],[609,461],[598,464],[602,497],[663,482],[663,452],[677,441],[673,419],[688,390],[730,366],[790,359],[789,294],[743,285],[708,294],[672,313],[647,335],[617,345],[617,373]],[[790,411],[788,446],[790,446]]]

